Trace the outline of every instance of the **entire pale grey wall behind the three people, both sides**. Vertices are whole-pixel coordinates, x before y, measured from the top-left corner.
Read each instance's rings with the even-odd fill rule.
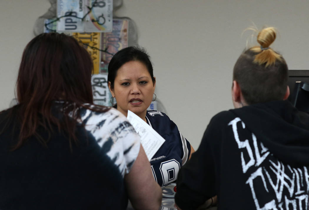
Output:
[[[22,50],[48,8],[43,0],[1,0],[0,109],[13,98]],[[309,69],[308,8],[307,0],[125,0],[115,15],[136,22],[138,42],[154,63],[156,94],[197,149],[211,117],[232,108],[232,69],[252,22],[278,28],[272,47],[289,69]]]

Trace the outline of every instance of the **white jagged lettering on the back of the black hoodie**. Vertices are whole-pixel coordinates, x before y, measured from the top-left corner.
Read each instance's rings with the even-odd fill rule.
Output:
[[[256,136],[242,135],[245,123],[239,117],[228,123],[240,150],[243,174],[248,175],[252,199],[258,210],[308,209],[309,175],[306,166],[293,168],[274,157]],[[265,201],[265,198],[268,199]]]

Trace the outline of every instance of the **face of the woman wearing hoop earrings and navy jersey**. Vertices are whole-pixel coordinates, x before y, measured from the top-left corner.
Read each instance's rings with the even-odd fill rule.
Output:
[[[155,92],[155,83],[143,63],[129,61],[123,64],[117,71],[114,88],[110,88],[110,82],[108,87],[116,98],[117,110],[125,116],[130,110],[145,120],[146,110]]]

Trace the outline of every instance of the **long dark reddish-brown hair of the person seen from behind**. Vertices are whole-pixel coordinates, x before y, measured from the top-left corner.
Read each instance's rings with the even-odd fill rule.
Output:
[[[80,118],[80,107],[90,108],[84,104],[93,104],[92,71],[89,53],[74,37],[45,33],[33,38],[23,51],[17,78],[19,104],[12,110],[19,117],[16,123],[20,133],[13,150],[22,146],[32,135],[46,146],[49,139],[43,139],[37,129],[43,127],[50,137],[54,132],[52,125],[68,135],[70,147],[72,141],[77,143],[75,129]],[[57,110],[60,115],[52,111],[55,100],[63,101]],[[98,106],[92,109],[108,110]]]

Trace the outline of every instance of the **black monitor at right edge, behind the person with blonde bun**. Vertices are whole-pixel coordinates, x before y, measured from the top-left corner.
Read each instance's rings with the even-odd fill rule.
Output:
[[[298,110],[309,113],[309,70],[289,70],[288,85],[288,100]]]

